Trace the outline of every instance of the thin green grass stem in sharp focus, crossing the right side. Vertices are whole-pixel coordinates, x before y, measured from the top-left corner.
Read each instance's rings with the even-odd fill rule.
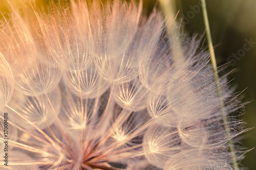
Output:
[[[204,18],[204,25],[205,25],[205,29],[206,29],[206,38],[207,38],[209,52],[210,52],[211,64],[212,64],[212,67],[214,68],[214,75],[215,75],[216,84],[217,84],[217,88],[218,88],[218,93],[219,93],[219,97],[220,97],[220,103],[221,103],[221,108],[222,108],[222,116],[223,116],[223,121],[224,121],[224,124],[225,124],[226,134],[227,134],[227,136],[229,136],[230,132],[229,132],[228,120],[227,120],[224,101],[222,99],[222,91],[221,91],[221,88],[220,88],[216,57],[215,57],[215,53],[214,53],[214,46],[212,45],[212,40],[211,40],[211,35],[210,35],[210,27],[209,27],[209,20],[208,20],[205,0],[201,0],[201,3],[202,3],[202,12],[203,12],[203,18]],[[231,152],[231,159],[232,159],[232,162],[233,162],[233,167],[234,167],[235,170],[238,170],[239,169],[238,162],[237,162],[237,159],[236,159],[236,154],[234,154],[234,147],[233,147],[233,143],[232,143],[231,139],[228,141],[228,146],[229,146],[229,150]]]

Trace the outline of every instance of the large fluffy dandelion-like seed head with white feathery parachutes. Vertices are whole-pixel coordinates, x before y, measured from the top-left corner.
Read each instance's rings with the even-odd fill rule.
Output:
[[[31,4],[24,16],[13,8],[0,25],[10,129],[0,167],[232,169],[243,154],[227,142],[246,131],[232,114],[243,105],[219,79],[223,121],[209,53],[171,30],[157,10],[144,16],[142,1],[71,1],[46,12]],[[4,122],[1,114],[1,148]]]

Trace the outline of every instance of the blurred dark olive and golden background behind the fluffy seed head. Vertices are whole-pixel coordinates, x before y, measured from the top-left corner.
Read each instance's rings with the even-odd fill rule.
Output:
[[[20,13],[24,13],[30,4],[27,0],[9,0]],[[31,0],[33,1],[33,0]],[[53,0],[52,0],[53,1]],[[169,5],[161,6],[161,3]],[[227,74],[236,91],[243,93],[240,100],[250,102],[245,106],[243,120],[246,128],[256,126],[256,1],[255,0],[205,0],[212,41],[218,66],[224,67],[220,75]],[[49,1],[34,0],[37,7],[49,7]],[[57,1],[56,1],[57,2]],[[162,10],[165,16],[174,17],[177,12],[177,21],[183,18],[181,26],[189,34],[203,35],[205,28],[202,9],[199,0],[144,0],[144,14],[151,13],[153,8]],[[7,0],[0,0],[0,11],[11,11]],[[1,18],[2,16],[0,16]],[[227,64],[228,63],[228,64]],[[256,128],[240,136],[242,145],[247,149],[256,146]],[[256,149],[248,152],[241,162],[248,169],[256,169]]]

